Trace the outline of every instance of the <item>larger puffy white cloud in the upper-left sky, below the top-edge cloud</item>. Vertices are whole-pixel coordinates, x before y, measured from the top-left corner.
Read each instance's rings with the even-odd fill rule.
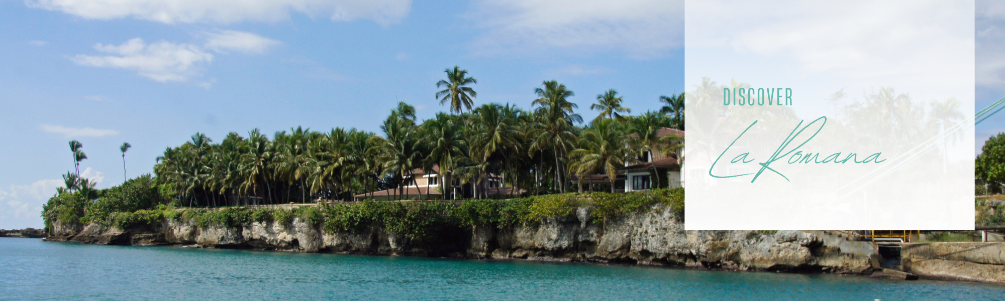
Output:
[[[92,56],[77,54],[73,62],[93,67],[120,68],[160,82],[186,81],[200,74],[202,65],[213,61],[213,54],[192,44],[175,44],[167,41],[147,44],[141,38],[122,45],[95,44],[94,49],[111,55]]]

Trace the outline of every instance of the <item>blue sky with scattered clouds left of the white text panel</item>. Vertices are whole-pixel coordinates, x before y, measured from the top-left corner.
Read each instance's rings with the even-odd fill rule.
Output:
[[[397,100],[430,117],[454,65],[478,79],[476,104],[529,107],[556,79],[586,117],[609,88],[634,111],[683,90],[680,1],[162,3],[0,1],[0,229],[42,226],[70,139],[108,188],[123,141],[136,177],[196,131],[378,131]]]

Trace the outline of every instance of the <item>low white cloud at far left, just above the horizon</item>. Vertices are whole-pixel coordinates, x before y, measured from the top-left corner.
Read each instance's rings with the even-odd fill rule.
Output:
[[[57,187],[62,187],[62,181],[40,180],[0,188],[0,229],[41,228],[42,205]]]

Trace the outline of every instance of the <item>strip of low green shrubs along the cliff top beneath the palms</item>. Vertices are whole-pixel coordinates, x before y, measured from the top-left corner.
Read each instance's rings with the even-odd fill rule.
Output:
[[[131,190],[123,190],[129,192]],[[142,190],[141,190],[142,192]],[[240,227],[252,222],[274,222],[288,226],[294,218],[299,218],[327,233],[358,230],[379,224],[388,231],[413,239],[434,237],[436,233],[448,229],[477,227],[507,227],[522,223],[538,223],[546,218],[563,218],[576,214],[577,208],[592,207],[590,215],[601,222],[618,215],[646,210],[650,205],[662,204],[673,209],[677,219],[683,218],[683,190],[653,190],[626,194],[562,194],[537,196],[513,200],[462,200],[462,201],[413,201],[336,204],[321,207],[300,207],[297,209],[249,209],[231,207],[221,210],[188,209],[179,210],[163,204],[147,206],[151,209],[134,211],[91,213],[90,208],[127,208],[122,199],[109,193],[98,198],[87,208],[87,214],[80,217],[81,203],[72,194],[53,197],[46,206],[46,225],[52,221],[69,224],[97,223],[121,229],[158,227],[166,219],[194,221],[199,227],[219,225]],[[156,200],[157,195],[140,194]],[[53,201],[57,201],[53,203]],[[97,205],[106,202],[109,204]],[[65,203],[65,204],[64,204]],[[135,203],[133,203],[135,204]]]

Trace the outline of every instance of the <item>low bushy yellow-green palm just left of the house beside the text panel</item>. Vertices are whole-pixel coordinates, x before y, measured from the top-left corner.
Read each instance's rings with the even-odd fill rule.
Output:
[[[580,148],[569,154],[570,168],[579,175],[579,192],[583,192],[583,177],[597,170],[603,170],[611,182],[611,193],[614,193],[614,179],[618,168],[624,167],[632,160],[632,152],[626,147],[614,121],[601,118],[593,122],[593,126],[583,131],[579,136]]]

